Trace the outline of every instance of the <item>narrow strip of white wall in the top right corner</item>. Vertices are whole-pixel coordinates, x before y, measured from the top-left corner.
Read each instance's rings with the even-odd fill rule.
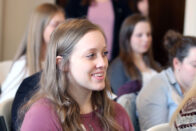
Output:
[[[184,35],[196,36],[196,0],[186,0]]]

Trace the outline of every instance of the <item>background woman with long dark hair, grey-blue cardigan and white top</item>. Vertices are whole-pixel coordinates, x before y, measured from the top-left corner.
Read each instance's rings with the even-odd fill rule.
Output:
[[[147,17],[141,14],[128,16],[120,30],[120,55],[110,64],[108,76],[112,91],[132,80],[145,85],[160,67],[152,55],[152,27]]]

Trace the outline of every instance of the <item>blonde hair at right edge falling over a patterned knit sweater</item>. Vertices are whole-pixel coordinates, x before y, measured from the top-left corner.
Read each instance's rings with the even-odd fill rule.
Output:
[[[174,124],[174,121],[176,120],[177,115],[179,114],[180,110],[184,107],[184,105],[186,104],[186,102],[192,98],[192,97],[196,97],[196,77],[193,81],[193,84],[191,86],[191,89],[185,94],[184,99],[182,100],[182,102],[180,103],[180,105],[178,106],[178,108],[176,109],[176,111],[174,112],[171,121],[170,121],[170,126],[172,127]]]

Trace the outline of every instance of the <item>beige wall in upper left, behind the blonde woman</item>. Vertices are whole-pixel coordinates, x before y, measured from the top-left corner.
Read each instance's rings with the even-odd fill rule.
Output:
[[[32,10],[44,2],[55,0],[0,0],[0,60],[14,57]]]

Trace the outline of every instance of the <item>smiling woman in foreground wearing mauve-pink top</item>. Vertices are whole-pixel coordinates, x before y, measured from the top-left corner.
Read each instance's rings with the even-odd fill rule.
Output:
[[[21,131],[134,131],[126,111],[109,98],[106,39],[86,19],[52,33],[41,87],[20,109]]]

